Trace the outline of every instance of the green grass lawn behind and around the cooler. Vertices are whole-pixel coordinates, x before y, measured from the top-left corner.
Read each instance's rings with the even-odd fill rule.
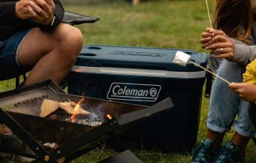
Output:
[[[208,1],[213,13],[213,2]],[[133,7],[126,0],[62,0],[66,10],[99,17],[97,23],[77,26],[84,34],[84,44],[124,45],[155,48],[188,48],[203,51],[199,44],[201,31],[209,26],[208,13],[203,0],[144,0]],[[0,82],[0,91],[14,88],[14,80]],[[208,98],[202,98],[198,140],[204,139]],[[225,140],[232,137],[228,133]],[[170,138],[171,139],[171,138]],[[247,163],[254,163],[255,147],[247,147]],[[161,151],[133,151],[146,163],[185,163],[190,153],[164,154]],[[115,154],[106,147],[96,148],[72,163],[100,161]],[[1,162],[20,162],[15,156],[0,158]]]

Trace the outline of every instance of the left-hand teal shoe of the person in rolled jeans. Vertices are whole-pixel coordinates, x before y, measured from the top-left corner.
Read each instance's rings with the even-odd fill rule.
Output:
[[[217,150],[212,149],[213,141],[211,139],[205,139],[201,144],[194,149],[193,158],[190,163],[212,163],[215,159],[215,155],[218,154]]]

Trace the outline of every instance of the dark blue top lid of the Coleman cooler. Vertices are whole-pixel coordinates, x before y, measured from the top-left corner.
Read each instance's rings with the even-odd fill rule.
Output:
[[[190,49],[137,48],[110,45],[87,45],[76,60],[75,66],[116,67],[129,69],[155,69],[168,71],[202,71],[190,62],[186,67],[173,63],[176,51],[191,55],[191,60],[206,66],[207,55]]]

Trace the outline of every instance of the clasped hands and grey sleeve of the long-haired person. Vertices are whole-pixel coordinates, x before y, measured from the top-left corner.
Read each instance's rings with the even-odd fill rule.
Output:
[[[243,41],[229,38],[222,30],[207,28],[201,34],[202,48],[211,50],[216,58],[226,58],[229,61],[246,66],[256,57],[256,23],[254,23],[249,41],[252,45]]]

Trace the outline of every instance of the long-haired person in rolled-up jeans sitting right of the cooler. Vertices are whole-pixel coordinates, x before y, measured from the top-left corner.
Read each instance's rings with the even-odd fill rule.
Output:
[[[202,48],[211,51],[209,66],[219,76],[236,83],[243,81],[246,66],[256,57],[254,0],[216,0],[214,28],[201,34]],[[247,112],[248,102],[215,78],[206,122],[206,138],[194,150],[190,162],[244,162],[246,147],[255,134]],[[237,115],[237,117],[236,117]],[[231,140],[222,140],[233,126]]]

